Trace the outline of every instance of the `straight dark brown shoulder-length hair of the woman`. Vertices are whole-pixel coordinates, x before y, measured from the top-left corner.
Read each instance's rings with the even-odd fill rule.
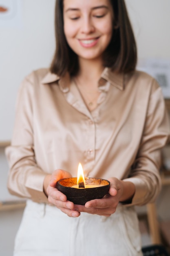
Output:
[[[117,73],[135,70],[137,47],[124,0],[110,0],[113,7],[113,35],[103,53],[104,67],[111,67]],[[50,71],[59,76],[71,75],[79,70],[78,57],[69,47],[64,35],[63,0],[55,3],[56,49]]]

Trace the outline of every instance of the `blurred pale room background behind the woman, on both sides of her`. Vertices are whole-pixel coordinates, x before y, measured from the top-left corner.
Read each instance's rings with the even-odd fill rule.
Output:
[[[138,69],[159,81],[170,111],[170,0],[125,0],[138,47]],[[18,87],[32,70],[49,67],[55,50],[55,0],[0,0],[0,255],[11,256],[25,202],[6,188]],[[170,114],[170,112],[169,112]],[[162,191],[136,207],[142,244],[170,248],[170,146],[162,152]]]

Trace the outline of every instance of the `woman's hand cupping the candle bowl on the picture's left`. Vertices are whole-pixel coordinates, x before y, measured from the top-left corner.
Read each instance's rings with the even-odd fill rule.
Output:
[[[55,205],[62,212],[66,213],[69,217],[79,217],[80,213],[74,210],[75,205],[73,202],[67,200],[66,195],[56,189],[56,183],[58,180],[63,178],[72,177],[67,171],[57,169],[52,175],[47,175],[44,180],[44,191],[48,196],[48,200],[51,204]],[[48,186],[46,186],[46,181],[49,180]],[[45,189],[46,187],[46,189]]]

